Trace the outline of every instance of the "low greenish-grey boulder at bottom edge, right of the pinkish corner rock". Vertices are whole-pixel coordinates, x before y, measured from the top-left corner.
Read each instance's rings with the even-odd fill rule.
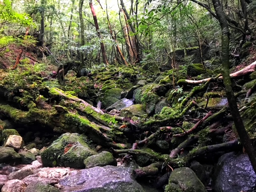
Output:
[[[43,182],[32,182],[28,184],[24,192],[60,192],[59,189]]]

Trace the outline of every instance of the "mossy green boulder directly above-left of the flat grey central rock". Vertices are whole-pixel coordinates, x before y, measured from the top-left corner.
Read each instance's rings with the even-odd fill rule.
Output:
[[[106,108],[111,106],[121,99],[122,92],[123,90],[120,88],[112,88],[110,90],[106,90],[102,98],[102,105]]]

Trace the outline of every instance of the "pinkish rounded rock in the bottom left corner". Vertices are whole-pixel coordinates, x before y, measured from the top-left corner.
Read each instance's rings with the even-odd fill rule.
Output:
[[[26,184],[18,179],[10,180],[4,184],[1,192],[24,192]]]

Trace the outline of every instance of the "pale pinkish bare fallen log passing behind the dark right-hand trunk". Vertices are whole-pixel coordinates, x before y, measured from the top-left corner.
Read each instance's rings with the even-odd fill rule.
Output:
[[[232,74],[230,74],[230,77],[231,78],[240,78],[244,75],[247,75],[247,74],[250,74],[252,72],[255,71],[255,68],[256,68],[256,61],[254,61],[252,64],[246,66],[245,68],[237,71],[237,72],[234,72]],[[208,82],[210,81],[212,78],[206,78],[206,79],[202,79],[202,80],[189,80],[189,79],[180,79],[178,80],[178,85],[179,86],[184,86],[184,85],[198,85],[198,84],[202,84],[202,83],[205,83],[205,82]],[[220,76],[218,77],[217,79],[219,80],[222,80],[223,77]]]

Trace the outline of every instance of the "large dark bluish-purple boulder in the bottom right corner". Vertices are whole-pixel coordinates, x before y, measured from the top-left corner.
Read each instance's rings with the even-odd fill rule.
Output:
[[[256,174],[247,154],[231,152],[222,155],[214,175],[216,192],[254,191],[256,187]]]

